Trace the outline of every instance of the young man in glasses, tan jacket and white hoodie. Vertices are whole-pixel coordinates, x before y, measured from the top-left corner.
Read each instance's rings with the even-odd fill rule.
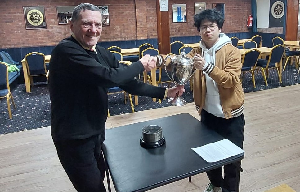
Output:
[[[201,122],[243,148],[245,121],[244,92],[239,80],[240,50],[221,33],[224,23],[221,12],[205,10],[195,15],[194,21],[202,40],[200,47],[186,56],[195,57],[194,65],[198,69],[194,75],[193,95]],[[157,61],[157,65],[161,65],[162,56],[158,56]],[[224,178],[222,167],[206,172],[210,183],[204,192],[236,191],[237,171],[240,171],[240,162],[224,166]]]

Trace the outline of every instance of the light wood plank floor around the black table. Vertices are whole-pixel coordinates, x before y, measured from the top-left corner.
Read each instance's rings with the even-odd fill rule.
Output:
[[[300,85],[245,94],[244,150],[241,192],[262,192],[287,183],[300,192]],[[112,116],[107,128],[178,113],[199,118],[193,103]],[[106,182],[105,182],[106,183]],[[205,173],[151,191],[199,192]],[[50,128],[0,135],[0,191],[74,192],[62,169]]]

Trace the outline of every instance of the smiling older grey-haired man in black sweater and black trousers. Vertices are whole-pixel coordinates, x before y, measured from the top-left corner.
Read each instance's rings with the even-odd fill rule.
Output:
[[[102,32],[98,7],[78,5],[70,23],[72,36],[53,49],[50,60],[51,135],[60,162],[79,192],[104,192],[101,145],[108,112],[107,91],[120,87],[133,95],[165,99],[183,87],[165,89],[134,79],[155,66],[146,55],[122,67],[110,51],[97,46]],[[121,159],[120,159],[121,161]]]

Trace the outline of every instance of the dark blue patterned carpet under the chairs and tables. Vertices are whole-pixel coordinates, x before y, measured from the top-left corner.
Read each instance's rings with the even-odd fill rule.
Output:
[[[278,81],[277,72],[271,70],[268,78],[269,86],[266,87],[262,75],[259,72],[255,76],[256,88],[254,89],[251,75],[247,73],[243,78],[243,89],[244,92],[247,93],[294,85],[299,83],[300,75],[297,75],[295,66],[287,66],[286,70],[282,72],[282,79],[283,83],[281,84]],[[19,84],[11,89],[17,109],[13,109],[11,105],[13,118],[10,120],[8,118],[6,99],[0,99],[0,134],[50,126],[51,111],[47,84],[35,83],[31,89],[31,93],[26,93],[24,84]],[[186,92],[182,98],[188,103],[193,102],[193,94],[190,92],[189,83],[186,84],[185,89]],[[134,101],[133,97],[132,100]],[[159,104],[158,102],[152,102],[152,99],[146,96],[138,96],[138,100],[139,105],[134,106],[135,111],[171,106],[167,100]],[[109,101],[111,116],[132,112],[129,100],[126,105],[124,104],[123,93],[109,95]]]

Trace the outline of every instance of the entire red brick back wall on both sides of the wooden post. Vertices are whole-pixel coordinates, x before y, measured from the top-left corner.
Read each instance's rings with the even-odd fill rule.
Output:
[[[0,48],[56,45],[71,35],[69,25],[58,25],[56,6],[76,6],[80,0],[0,0]],[[110,26],[103,27],[100,41],[157,38],[155,0],[90,0],[96,5],[109,5]],[[169,0],[170,36],[199,35],[193,25],[194,0]],[[212,8],[214,0],[204,0]],[[247,32],[246,19],[251,0],[223,0],[225,23],[222,32]],[[172,4],[185,3],[187,22],[172,22]],[[26,30],[22,6],[44,6],[47,29]],[[137,11],[136,11],[137,10]],[[139,11],[141,10],[141,11]]]

